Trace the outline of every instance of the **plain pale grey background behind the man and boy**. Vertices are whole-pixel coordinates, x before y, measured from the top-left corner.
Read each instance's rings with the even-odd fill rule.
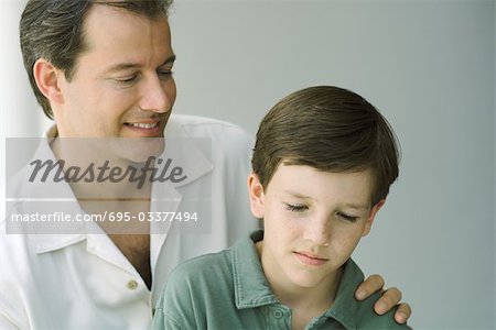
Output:
[[[47,124],[21,66],[23,3],[1,2],[2,154],[4,136]],[[482,0],[179,0],[174,111],[255,133],[302,87],[367,98],[395,128],[402,162],[356,261],[401,288],[416,329],[494,329],[495,14]]]

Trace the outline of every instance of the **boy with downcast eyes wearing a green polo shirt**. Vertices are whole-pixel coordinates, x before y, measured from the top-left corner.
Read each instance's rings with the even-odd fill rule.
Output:
[[[157,329],[390,329],[354,298],[349,258],[398,176],[395,134],[360,96],[311,87],[262,120],[248,177],[258,231],[186,261],[158,304]]]

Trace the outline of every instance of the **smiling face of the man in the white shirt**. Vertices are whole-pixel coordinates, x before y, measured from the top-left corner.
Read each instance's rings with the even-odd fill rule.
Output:
[[[60,136],[162,138],[176,94],[166,18],[96,4],[84,35],[74,78],[57,75]]]

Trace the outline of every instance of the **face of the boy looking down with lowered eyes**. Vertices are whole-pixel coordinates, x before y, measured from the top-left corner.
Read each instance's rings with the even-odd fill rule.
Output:
[[[248,185],[251,211],[263,218],[258,245],[263,272],[283,287],[332,285],[384,204],[370,207],[368,172],[328,173],[281,163],[265,191],[256,175]]]

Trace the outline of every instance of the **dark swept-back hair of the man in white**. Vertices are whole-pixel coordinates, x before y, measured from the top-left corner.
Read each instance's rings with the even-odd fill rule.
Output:
[[[29,0],[20,21],[21,51],[43,112],[53,118],[48,100],[36,86],[33,66],[44,58],[71,81],[78,56],[87,50],[83,25],[94,6],[112,6],[152,19],[166,16],[171,4],[172,0]]]

